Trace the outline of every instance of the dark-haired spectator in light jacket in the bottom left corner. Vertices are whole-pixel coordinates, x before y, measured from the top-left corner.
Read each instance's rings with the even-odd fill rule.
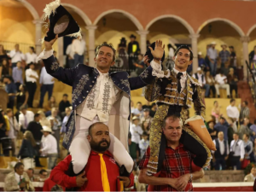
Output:
[[[5,191],[34,191],[34,187],[26,172],[23,163],[16,163],[15,172],[10,172],[4,179]]]

